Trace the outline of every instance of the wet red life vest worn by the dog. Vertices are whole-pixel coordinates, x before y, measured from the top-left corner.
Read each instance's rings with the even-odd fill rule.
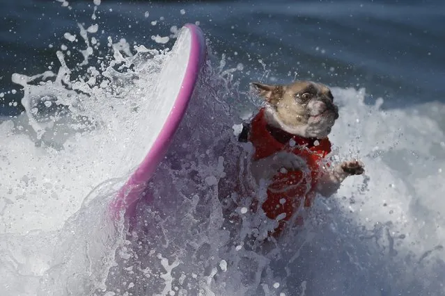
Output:
[[[255,148],[253,161],[279,151],[289,151],[306,161],[310,170],[310,176],[302,170],[296,170],[279,171],[272,178],[272,183],[267,188],[267,199],[262,208],[267,217],[273,220],[282,213],[286,213],[286,217],[280,220],[279,227],[276,229],[276,232],[279,232],[297,211],[302,201],[304,201],[304,206],[311,206],[320,175],[320,160],[331,152],[331,142],[328,138],[302,138],[270,126],[265,120],[265,108],[260,109],[251,121],[249,140]],[[295,141],[293,147],[290,145],[290,140]],[[301,223],[302,220],[297,219],[297,222]]]

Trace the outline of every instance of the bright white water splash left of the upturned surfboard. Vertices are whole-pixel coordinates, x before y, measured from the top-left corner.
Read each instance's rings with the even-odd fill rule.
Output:
[[[84,51],[75,79],[63,51],[57,74],[13,74],[26,113],[0,125],[2,294],[91,293],[123,244],[107,206],[145,155],[132,138],[154,140],[139,122],[156,120],[141,117],[168,51],[109,42],[113,55],[99,68],[88,66],[93,48]]]

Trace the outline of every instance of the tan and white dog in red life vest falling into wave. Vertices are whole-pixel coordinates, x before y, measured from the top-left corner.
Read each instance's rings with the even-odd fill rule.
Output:
[[[331,167],[325,160],[331,152],[328,135],[338,119],[338,107],[326,85],[295,81],[252,86],[265,106],[243,124],[238,141],[253,145],[251,175],[257,184],[263,181],[267,186],[261,207],[267,217],[279,220],[273,233],[277,236],[300,206],[311,206],[317,192],[333,195],[348,176],[363,174],[364,165],[351,160]]]

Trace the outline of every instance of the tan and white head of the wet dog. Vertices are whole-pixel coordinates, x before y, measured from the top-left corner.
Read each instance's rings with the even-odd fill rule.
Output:
[[[295,81],[289,85],[252,83],[270,108],[267,120],[288,133],[304,138],[326,138],[338,118],[331,91],[312,81]]]

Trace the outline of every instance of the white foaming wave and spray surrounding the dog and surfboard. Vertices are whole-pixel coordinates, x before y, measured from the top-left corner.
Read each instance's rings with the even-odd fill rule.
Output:
[[[96,30],[79,29],[88,48]],[[246,181],[251,147],[235,141],[233,104],[244,114],[252,101],[233,79],[242,67],[213,57],[127,236],[107,204],[153,140],[145,114],[168,54],[109,44],[100,67],[86,52],[80,79],[62,52],[57,74],[13,76],[26,114],[0,124],[1,295],[445,293],[442,104],[382,110],[364,90],[334,88],[333,154],[361,158],[366,175],[317,199],[304,229],[258,245],[271,225],[247,211],[243,188],[223,192],[237,217],[220,200],[223,185]]]

